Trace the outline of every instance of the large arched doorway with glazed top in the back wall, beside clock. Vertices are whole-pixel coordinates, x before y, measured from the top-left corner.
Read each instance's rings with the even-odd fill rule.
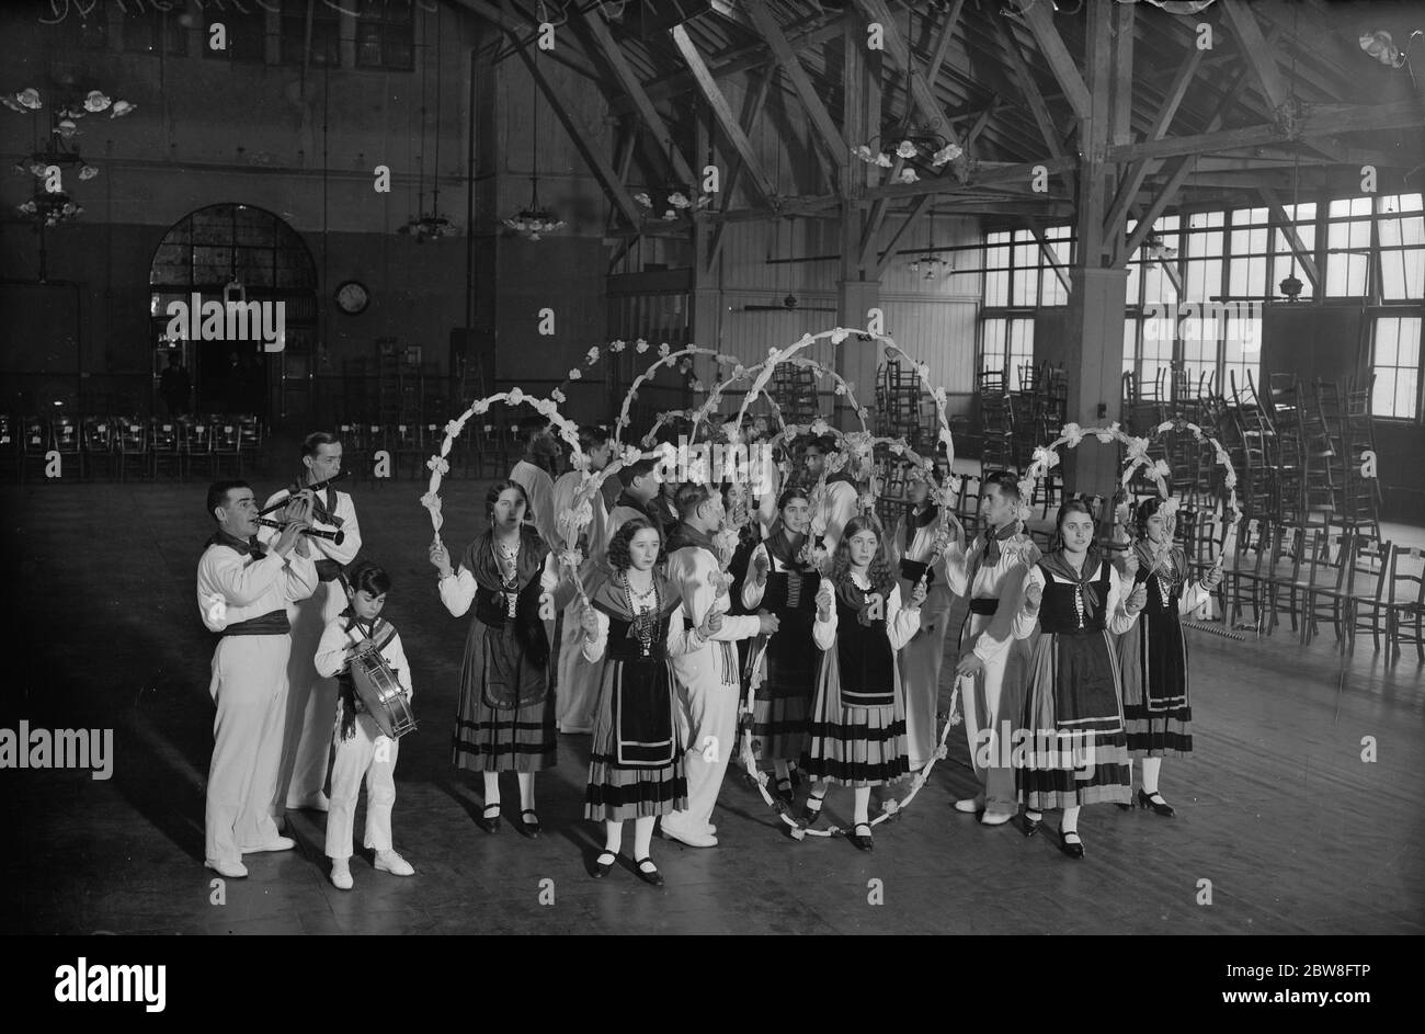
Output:
[[[316,341],[316,262],[302,237],[272,213],[245,204],[198,208],[178,220],[154,252],[148,271],[150,345],[157,385],[178,354],[192,379],[194,412],[254,412],[268,424],[305,415],[308,365]],[[197,300],[194,298],[197,295]],[[170,302],[184,312],[197,301],[284,302],[284,349],[259,339],[165,334]]]

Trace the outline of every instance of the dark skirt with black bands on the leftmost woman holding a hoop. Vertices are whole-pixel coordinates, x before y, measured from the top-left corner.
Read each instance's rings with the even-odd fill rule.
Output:
[[[484,697],[484,626],[475,622],[460,667],[460,705],[450,760],[469,772],[542,772],[557,760],[554,690],[519,707]]]

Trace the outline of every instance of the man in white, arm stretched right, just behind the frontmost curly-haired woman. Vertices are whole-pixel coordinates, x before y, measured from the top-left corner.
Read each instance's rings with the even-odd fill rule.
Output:
[[[725,516],[715,486],[688,482],[678,488],[678,515],[668,535],[668,588],[683,599],[683,615],[694,628],[711,612],[727,615],[732,600],[722,575],[722,558],[712,543]],[[714,622],[714,625],[717,625]],[[738,639],[777,632],[775,615],[724,616],[704,646],[673,659],[678,683],[678,726],[687,747],[688,807],[663,816],[663,834],[690,847],[715,847],[712,809],[722,789],[728,759],[735,752],[741,669]]]

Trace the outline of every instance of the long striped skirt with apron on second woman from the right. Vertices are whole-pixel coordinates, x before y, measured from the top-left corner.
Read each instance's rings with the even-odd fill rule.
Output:
[[[1130,800],[1119,665],[1107,632],[1040,633],[1013,759],[1032,812]]]

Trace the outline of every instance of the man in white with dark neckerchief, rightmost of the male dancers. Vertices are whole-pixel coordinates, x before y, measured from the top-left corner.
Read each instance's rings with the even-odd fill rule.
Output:
[[[946,582],[969,603],[955,677],[972,680],[962,706],[970,766],[980,784],[973,797],[955,802],[955,810],[983,813],[983,826],[1003,826],[1019,812],[1015,773],[1005,757],[1025,709],[1029,643],[1016,640],[1013,629],[1025,576],[1039,562],[1039,546],[1020,531],[1022,502],[1012,474],[985,478],[979,503],[985,531],[968,546],[959,521],[948,515],[955,542],[945,553]]]

